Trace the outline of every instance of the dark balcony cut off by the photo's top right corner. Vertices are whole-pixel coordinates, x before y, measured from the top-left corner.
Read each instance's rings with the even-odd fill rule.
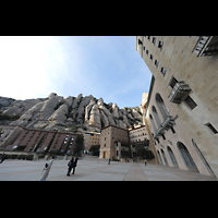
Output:
[[[218,55],[218,36],[199,36],[193,51],[197,57]]]

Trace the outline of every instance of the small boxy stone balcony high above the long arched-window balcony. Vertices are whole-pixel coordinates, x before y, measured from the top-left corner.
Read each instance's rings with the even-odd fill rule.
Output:
[[[175,83],[168,98],[171,102],[180,104],[187,97],[190,90],[190,86],[184,81],[180,81]]]

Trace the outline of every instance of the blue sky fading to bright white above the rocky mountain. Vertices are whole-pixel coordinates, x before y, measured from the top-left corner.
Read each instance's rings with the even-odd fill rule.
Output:
[[[0,96],[15,99],[93,95],[138,106],[152,73],[135,36],[1,36]]]

